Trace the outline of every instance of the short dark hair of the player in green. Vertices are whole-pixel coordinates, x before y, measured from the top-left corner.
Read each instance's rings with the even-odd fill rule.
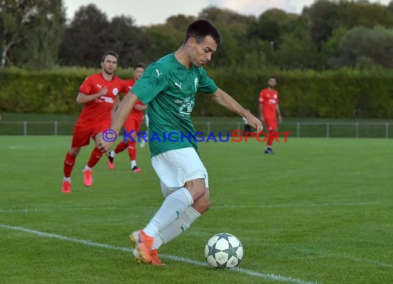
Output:
[[[188,25],[187,32],[185,32],[183,45],[185,45],[190,38],[194,38],[196,43],[200,43],[208,36],[212,37],[217,45],[221,43],[221,34],[219,30],[210,23],[210,21],[204,19],[193,21]]]

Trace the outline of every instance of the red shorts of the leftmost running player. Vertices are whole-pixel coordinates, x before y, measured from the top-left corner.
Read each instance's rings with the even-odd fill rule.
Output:
[[[75,124],[74,133],[72,134],[72,148],[82,148],[89,145],[90,137],[95,141],[97,133],[104,132],[110,128],[110,122],[99,124]]]

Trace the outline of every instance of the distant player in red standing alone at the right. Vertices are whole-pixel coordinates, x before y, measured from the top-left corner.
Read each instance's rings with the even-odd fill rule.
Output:
[[[279,92],[275,89],[277,84],[275,77],[268,80],[268,88],[259,93],[259,110],[261,121],[265,122],[266,130],[269,132],[268,142],[266,143],[265,154],[273,154],[272,143],[274,132],[277,132],[277,119],[279,123],[283,120],[279,108]]]

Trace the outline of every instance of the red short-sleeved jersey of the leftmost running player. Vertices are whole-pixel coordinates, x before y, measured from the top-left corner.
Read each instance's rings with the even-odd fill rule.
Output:
[[[102,88],[108,92],[83,105],[83,110],[78,117],[78,123],[110,123],[111,111],[117,96],[125,91],[124,83],[119,77],[113,76],[112,81],[106,81],[102,73],[92,74],[83,81],[79,92],[90,95],[97,94]]]

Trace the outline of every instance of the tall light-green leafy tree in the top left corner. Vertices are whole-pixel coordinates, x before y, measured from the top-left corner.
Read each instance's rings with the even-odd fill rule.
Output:
[[[54,65],[66,21],[62,1],[1,0],[0,4],[1,67]]]

